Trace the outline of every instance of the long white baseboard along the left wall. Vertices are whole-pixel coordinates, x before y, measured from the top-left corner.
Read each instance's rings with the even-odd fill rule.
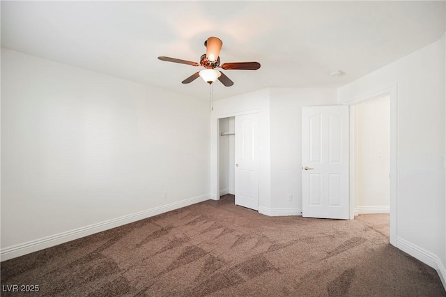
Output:
[[[150,218],[153,217],[154,215],[166,213],[167,211],[173,211],[174,209],[190,206],[192,204],[196,204],[209,199],[210,196],[208,194],[192,197],[189,199],[184,199],[170,204],[165,204],[163,206],[150,208],[145,211],[139,211],[138,213],[124,215],[122,217],[115,218],[112,220],[99,222],[97,224],[91,224],[86,227],[62,232],[59,234],[54,234],[52,236],[39,238],[33,241],[28,241],[26,243],[20,243],[18,245],[12,245],[10,247],[6,247],[0,250],[0,261],[6,261],[8,259],[13,259],[15,257],[23,256],[24,254],[37,252],[38,250],[43,250],[45,248],[51,248],[54,245],[60,245],[61,243],[74,241],[77,238],[82,238],[84,236],[89,236],[91,234],[119,227],[124,224],[128,224],[130,222],[135,222],[138,220],[143,220],[145,218]]]

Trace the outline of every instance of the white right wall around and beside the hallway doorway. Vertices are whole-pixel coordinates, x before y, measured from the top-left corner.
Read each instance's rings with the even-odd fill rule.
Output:
[[[445,36],[339,88],[339,103],[392,84],[398,85],[397,246],[446,273]]]

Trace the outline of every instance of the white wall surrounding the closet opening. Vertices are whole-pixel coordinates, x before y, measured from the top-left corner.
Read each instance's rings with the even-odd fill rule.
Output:
[[[214,102],[210,119],[210,197],[217,193],[217,121],[229,116],[259,113],[259,206],[270,207],[270,90],[263,89]]]

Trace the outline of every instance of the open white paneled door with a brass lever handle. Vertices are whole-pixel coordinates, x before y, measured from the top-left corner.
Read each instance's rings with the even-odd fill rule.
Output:
[[[302,107],[302,216],[350,218],[348,106]]]

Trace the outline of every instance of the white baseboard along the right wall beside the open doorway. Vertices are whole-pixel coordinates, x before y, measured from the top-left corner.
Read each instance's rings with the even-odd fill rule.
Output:
[[[443,262],[436,254],[432,254],[431,252],[428,252],[423,248],[420,248],[419,246],[414,245],[413,243],[410,243],[399,237],[397,238],[397,248],[399,248],[403,252],[407,252],[408,254],[410,254],[410,256],[422,261],[424,264],[427,264],[436,269],[443,287],[446,289],[446,269],[443,265]]]

